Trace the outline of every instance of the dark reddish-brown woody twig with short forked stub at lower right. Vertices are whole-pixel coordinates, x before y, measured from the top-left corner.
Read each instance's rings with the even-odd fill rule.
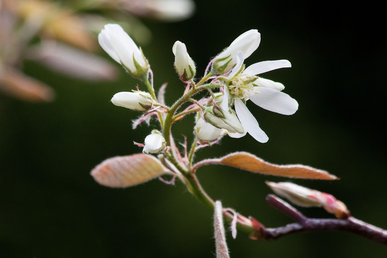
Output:
[[[261,226],[260,232],[262,235],[252,237],[253,239],[272,240],[298,232],[338,230],[350,232],[387,245],[387,230],[375,227],[374,225],[368,224],[354,217],[349,217],[348,219],[308,218],[296,210],[296,208],[289,205],[289,203],[274,196],[273,194],[267,195],[266,201],[270,206],[291,217],[296,222],[283,227],[264,228],[263,230]]]

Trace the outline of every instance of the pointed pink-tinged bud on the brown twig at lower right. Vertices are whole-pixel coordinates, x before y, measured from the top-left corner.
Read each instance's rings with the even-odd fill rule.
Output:
[[[349,211],[342,201],[334,196],[309,189],[290,182],[268,182],[266,184],[279,196],[283,196],[295,205],[301,207],[323,207],[337,218],[348,218]]]

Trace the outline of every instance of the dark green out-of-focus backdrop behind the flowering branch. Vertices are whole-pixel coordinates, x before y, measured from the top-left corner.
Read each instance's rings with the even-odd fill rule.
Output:
[[[74,3],[57,1],[69,8]],[[200,77],[211,57],[241,33],[258,29],[260,46],[246,64],[288,59],[292,68],[262,77],[283,83],[284,92],[300,105],[296,114],[284,116],[249,103],[269,141],[224,137],[221,145],[198,151],[196,160],[249,151],[272,163],[310,165],[341,178],[289,180],[208,166],[198,170],[207,193],[225,207],[278,227],[292,220],[265,203],[271,190],[264,181],[290,181],[333,194],[354,217],[387,229],[383,9],[354,3],[344,7],[248,0],[196,0],[195,5],[193,16],[180,22],[120,14],[120,22],[135,19],[149,31],[142,43],[141,37],[135,41],[149,59],[155,88],[168,82],[167,104],[184,91],[173,68],[176,40],[187,45]],[[82,12],[105,15],[93,8]],[[39,58],[26,58],[14,67],[49,85],[55,98],[31,102],[6,91],[0,94],[0,256],[215,257],[212,211],[182,183],[168,186],[156,179],[111,189],[98,185],[89,174],[106,158],[139,153],[132,141],[143,142],[153,129],[142,126],[133,131],[131,120],[139,113],[110,103],[115,93],[130,91],[139,81],[125,74],[96,44],[97,34],[92,35],[92,51],[111,61],[109,69],[116,77],[112,72],[108,81],[75,79]],[[182,135],[192,139],[193,120],[191,116],[176,122],[177,141],[183,141]],[[310,217],[332,217],[319,208],[300,210]],[[301,233],[258,242],[243,232],[232,239],[228,230],[227,240],[231,257],[238,258],[387,254],[386,246],[346,232]]]

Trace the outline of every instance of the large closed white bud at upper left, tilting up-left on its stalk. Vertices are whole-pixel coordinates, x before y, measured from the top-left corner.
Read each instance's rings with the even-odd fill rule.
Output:
[[[136,77],[147,74],[149,64],[132,38],[118,24],[106,24],[98,35],[99,45]]]

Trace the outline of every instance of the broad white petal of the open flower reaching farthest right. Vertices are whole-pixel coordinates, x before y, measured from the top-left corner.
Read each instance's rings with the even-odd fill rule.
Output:
[[[254,94],[255,91],[260,93]],[[254,87],[248,97],[255,105],[283,115],[292,115],[298,109],[298,103],[294,98],[275,89]]]

